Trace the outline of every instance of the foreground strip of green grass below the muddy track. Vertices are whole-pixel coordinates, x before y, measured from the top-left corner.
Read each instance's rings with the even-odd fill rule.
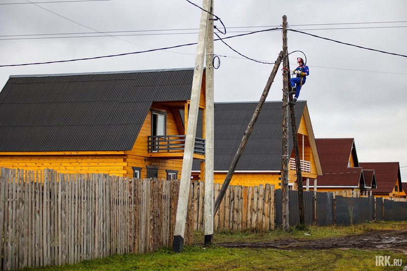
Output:
[[[391,270],[375,266],[376,255],[390,255],[407,262],[407,255],[364,250],[277,250],[200,246],[176,254],[168,249],[145,255],[116,255],[74,265],[37,270]],[[398,270],[401,269],[398,267]],[[397,270],[397,268],[393,268]]]

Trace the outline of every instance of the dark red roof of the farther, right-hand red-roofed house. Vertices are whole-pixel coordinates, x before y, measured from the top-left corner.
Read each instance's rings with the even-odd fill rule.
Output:
[[[389,195],[394,189],[398,179],[401,187],[400,165],[398,162],[359,163],[364,169],[374,169],[377,189],[372,190],[373,195]]]

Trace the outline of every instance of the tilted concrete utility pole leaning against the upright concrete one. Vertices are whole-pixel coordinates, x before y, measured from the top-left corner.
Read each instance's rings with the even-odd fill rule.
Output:
[[[203,9],[209,11],[211,0],[203,0]],[[191,185],[192,160],[194,158],[195,134],[198,122],[199,97],[201,92],[204,59],[205,41],[208,27],[209,14],[201,12],[201,22],[198,34],[197,53],[195,59],[194,77],[192,80],[191,104],[188,115],[187,134],[185,139],[185,150],[181,182],[179,184],[178,205],[176,209],[176,219],[174,228],[174,240],[172,250],[181,252],[184,245],[185,223],[187,221],[188,199]]]

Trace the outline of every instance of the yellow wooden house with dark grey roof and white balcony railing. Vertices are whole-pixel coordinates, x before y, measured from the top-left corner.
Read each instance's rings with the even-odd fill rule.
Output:
[[[257,102],[215,103],[214,183],[222,184]],[[282,102],[266,102],[254,125],[246,148],[236,166],[231,185],[281,188],[282,167]],[[322,174],[321,165],[305,101],[295,105],[301,173],[313,183]],[[199,136],[197,132],[197,136]],[[289,131],[289,185],[297,189],[292,133]],[[203,167],[193,165],[193,180],[204,180]]]

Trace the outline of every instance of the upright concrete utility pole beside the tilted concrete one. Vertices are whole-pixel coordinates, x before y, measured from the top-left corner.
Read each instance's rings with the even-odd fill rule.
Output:
[[[211,1],[210,13],[213,13]],[[213,104],[213,20],[206,27],[206,102],[205,102],[205,246],[212,243],[213,235],[213,145],[214,145],[214,104]]]

